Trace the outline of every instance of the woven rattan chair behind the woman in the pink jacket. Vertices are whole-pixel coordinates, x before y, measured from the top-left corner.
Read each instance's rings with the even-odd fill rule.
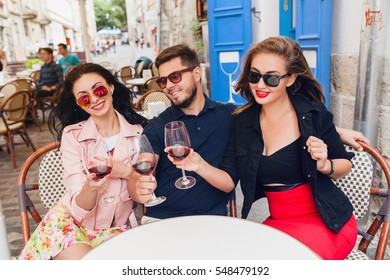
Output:
[[[65,193],[59,147],[59,142],[53,142],[38,149],[28,157],[19,172],[17,191],[24,245],[32,232],[29,214],[35,228],[42,220],[43,212],[47,211],[45,209],[50,209]],[[36,167],[38,174],[34,170]]]

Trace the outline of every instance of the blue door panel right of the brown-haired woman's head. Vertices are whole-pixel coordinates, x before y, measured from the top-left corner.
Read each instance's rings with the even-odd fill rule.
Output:
[[[295,0],[296,41],[322,85],[329,106],[332,0]]]

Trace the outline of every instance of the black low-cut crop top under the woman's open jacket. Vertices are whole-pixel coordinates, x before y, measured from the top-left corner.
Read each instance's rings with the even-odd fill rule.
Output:
[[[302,172],[299,139],[281,148],[270,156],[261,156],[257,172],[257,185],[292,185],[305,183]]]

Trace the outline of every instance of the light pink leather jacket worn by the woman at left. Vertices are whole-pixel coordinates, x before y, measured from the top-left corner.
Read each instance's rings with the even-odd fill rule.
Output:
[[[129,124],[121,114],[118,112],[116,114],[119,118],[120,133],[113,157],[125,160],[129,148],[125,138],[140,135],[143,128],[141,125]],[[103,195],[100,195],[98,203],[91,211],[82,209],[76,204],[75,197],[80,193],[87,174],[83,145],[85,140],[99,138],[102,136],[97,131],[92,118],[65,127],[61,139],[61,152],[66,193],[60,203],[68,207],[78,222],[90,229],[108,229],[113,221],[116,226],[122,226],[129,221],[132,228],[136,227],[138,224],[133,209],[135,203],[127,191],[126,179],[110,179],[107,191],[115,196],[114,202],[107,204],[103,201]]]

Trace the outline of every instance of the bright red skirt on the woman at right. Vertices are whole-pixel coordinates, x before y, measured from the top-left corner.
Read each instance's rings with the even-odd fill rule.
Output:
[[[331,231],[318,212],[310,184],[265,193],[270,210],[265,225],[298,239],[326,260],[345,259],[352,251],[357,238],[355,217],[352,215],[339,233]]]

